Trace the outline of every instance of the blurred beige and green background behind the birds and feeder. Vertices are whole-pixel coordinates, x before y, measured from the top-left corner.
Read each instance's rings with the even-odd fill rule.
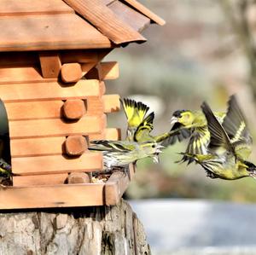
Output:
[[[206,100],[213,110],[225,111],[229,96],[236,93],[255,141],[256,1],[140,2],[166,20],[166,26],[151,26],[143,33],[147,43],[108,55],[120,68],[119,79],[108,82],[108,93],[148,104],[156,115],[154,134],[170,130],[175,110],[198,110]],[[108,123],[125,134],[122,111],[110,114]],[[199,165],[176,164],[186,142],[166,148],[160,165],[139,161],[125,194],[135,200],[132,206],[155,254],[256,254],[255,180],[212,180]],[[250,158],[254,163],[255,155],[256,148]],[[194,252],[178,253],[186,247]]]

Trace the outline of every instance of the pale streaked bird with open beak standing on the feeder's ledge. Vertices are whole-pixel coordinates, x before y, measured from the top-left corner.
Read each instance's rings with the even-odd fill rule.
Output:
[[[90,142],[90,150],[101,151],[104,165],[108,169],[116,166],[125,166],[137,159],[152,157],[158,162],[158,154],[162,146],[157,142],[131,142],[98,140]]]

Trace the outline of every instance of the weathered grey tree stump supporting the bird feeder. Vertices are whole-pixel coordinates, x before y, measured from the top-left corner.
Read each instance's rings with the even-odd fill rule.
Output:
[[[117,206],[0,213],[0,254],[151,254],[142,223]]]

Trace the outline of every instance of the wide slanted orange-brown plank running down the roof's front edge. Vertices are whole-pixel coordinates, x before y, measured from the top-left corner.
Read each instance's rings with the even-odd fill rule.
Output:
[[[143,36],[119,19],[100,0],[64,0],[113,43],[144,42]]]

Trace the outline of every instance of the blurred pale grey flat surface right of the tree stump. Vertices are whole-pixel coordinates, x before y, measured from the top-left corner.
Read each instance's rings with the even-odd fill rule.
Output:
[[[153,254],[256,254],[256,205],[207,200],[130,202]]]

